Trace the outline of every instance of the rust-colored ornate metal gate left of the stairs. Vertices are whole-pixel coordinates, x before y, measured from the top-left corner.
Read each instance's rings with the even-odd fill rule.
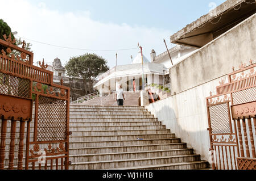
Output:
[[[33,65],[33,53],[24,49],[24,41],[20,48],[11,35],[4,37],[0,169],[68,169],[69,88],[63,82],[53,84],[53,73],[44,61],[39,62],[41,68]]]

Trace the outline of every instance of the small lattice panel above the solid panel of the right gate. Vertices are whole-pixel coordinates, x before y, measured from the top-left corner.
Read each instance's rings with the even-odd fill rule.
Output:
[[[243,104],[256,101],[256,87],[233,93],[233,104]]]

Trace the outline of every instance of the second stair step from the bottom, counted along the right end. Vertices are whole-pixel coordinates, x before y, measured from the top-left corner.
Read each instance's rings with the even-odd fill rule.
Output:
[[[163,165],[168,163],[194,162],[194,161],[200,161],[199,154],[177,155],[177,156],[171,156],[171,157],[122,159],[122,160],[97,161],[97,162],[73,162],[72,165],[69,167],[70,169],[74,169],[74,170],[99,170],[99,169],[147,166],[147,165]]]

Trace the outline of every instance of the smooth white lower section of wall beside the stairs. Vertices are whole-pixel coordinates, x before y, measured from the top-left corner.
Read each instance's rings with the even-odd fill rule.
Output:
[[[206,161],[209,159],[210,143],[205,98],[219,85],[218,81],[220,78],[146,106],[176,137],[180,137],[188,148],[193,148]]]

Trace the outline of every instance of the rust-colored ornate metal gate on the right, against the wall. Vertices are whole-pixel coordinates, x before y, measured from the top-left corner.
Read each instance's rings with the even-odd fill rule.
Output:
[[[207,98],[212,167],[256,169],[256,64],[242,64]],[[250,140],[250,141],[249,141]]]

